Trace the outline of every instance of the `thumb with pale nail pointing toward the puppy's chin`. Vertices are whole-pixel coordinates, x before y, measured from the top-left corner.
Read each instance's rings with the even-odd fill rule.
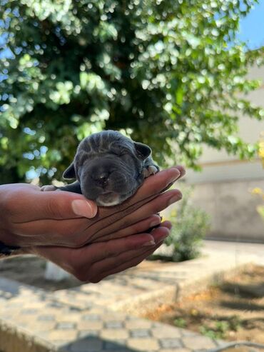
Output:
[[[14,223],[25,223],[39,219],[93,218],[97,206],[81,194],[66,191],[43,192],[29,188],[25,193],[16,192]],[[26,197],[26,216],[25,216]],[[14,206],[13,206],[14,208]]]

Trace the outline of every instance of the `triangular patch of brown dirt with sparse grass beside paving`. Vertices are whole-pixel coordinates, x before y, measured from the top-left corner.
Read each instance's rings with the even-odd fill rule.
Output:
[[[220,285],[173,306],[163,305],[146,317],[211,338],[264,343],[263,313],[264,266],[249,265]]]

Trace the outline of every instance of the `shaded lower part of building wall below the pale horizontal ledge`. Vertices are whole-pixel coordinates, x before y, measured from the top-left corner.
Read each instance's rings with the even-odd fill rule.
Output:
[[[264,179],[195,185],[193,203],[211,217],[208,238],[264,243],[264,219],[256,211],[263,200],[250,193],[255,187],[264,190]]]

